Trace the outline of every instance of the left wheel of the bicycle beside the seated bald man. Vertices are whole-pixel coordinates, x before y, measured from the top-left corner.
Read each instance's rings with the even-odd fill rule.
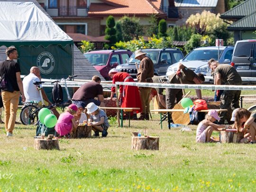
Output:
[[[38,121],[38,108],[34,105],[27,105],[21,109],[20,121],[23,125],[34,125]]]

